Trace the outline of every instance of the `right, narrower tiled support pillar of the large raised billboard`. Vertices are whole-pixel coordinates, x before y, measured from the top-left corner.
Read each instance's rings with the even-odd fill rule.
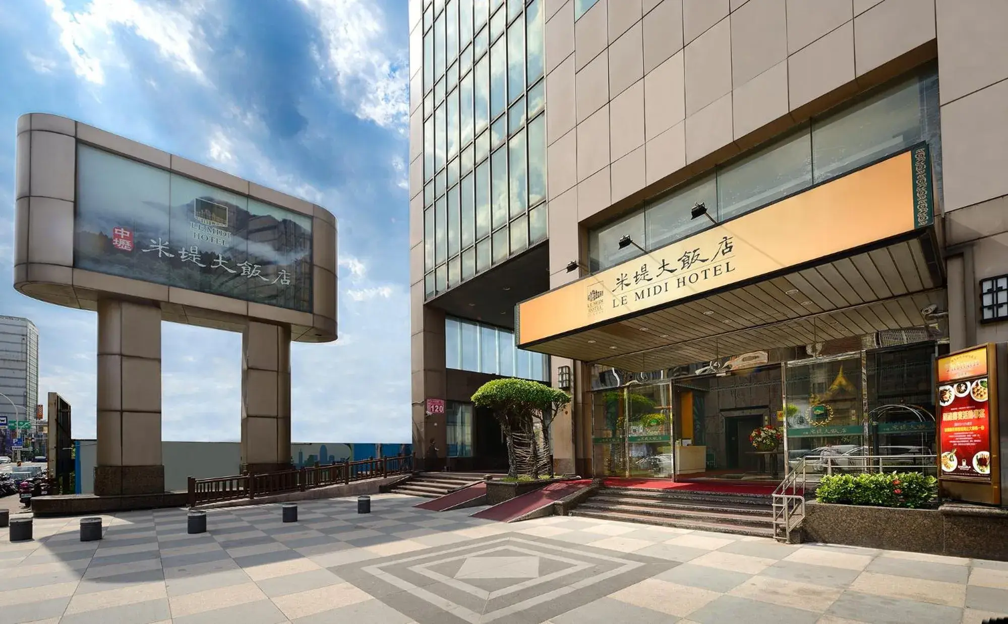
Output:
[[[290,468],[290,328],[249,320],[242,333],[242,469]]]

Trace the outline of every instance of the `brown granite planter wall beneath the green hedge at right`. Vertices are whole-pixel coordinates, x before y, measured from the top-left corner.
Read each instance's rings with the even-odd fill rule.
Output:
[[[1008,510],[947,504],[903,509],[808,502],[803,541],[1008,560]]]

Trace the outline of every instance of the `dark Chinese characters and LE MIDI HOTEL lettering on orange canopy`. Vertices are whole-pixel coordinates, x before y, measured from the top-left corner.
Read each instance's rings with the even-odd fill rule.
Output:
[[[732,264],[734,249],[732,237],[723,236],[717,245],[712,245],[709,249],[681,249],[670,254],[659,250],[646,254],[640,266],[632,272],[620,271],[610,284],[602,285],[610,289],[610,305],[620,307],[631,300],[641,301],[673,288],[685,288],[711,277],[731,273],[735,270]],[[598,292],[593,287],[588,294],[590,316],[604,311],[597,301]]]

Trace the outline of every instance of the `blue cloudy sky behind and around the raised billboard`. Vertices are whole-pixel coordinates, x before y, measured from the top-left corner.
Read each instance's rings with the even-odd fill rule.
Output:
[[[15,122],[64,115],[327,207],[340,340],[291,349],[295,442],[409,442],[405,0],[0,0],[0,315],[95,435],[96,315],[11,286]],[[163,323],[164,440],[240,435],[241,336]]]

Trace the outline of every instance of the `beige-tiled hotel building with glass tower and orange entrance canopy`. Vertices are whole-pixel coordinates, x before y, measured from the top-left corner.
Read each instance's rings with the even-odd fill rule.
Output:
[[[505,462],[469,401],[497,376],[573,393],[564,473],[935,453],[935,359],[1008,341],[1006,23],[996,0],[411,0],[418,459]],[[783,454],[752,452],[765,424]]]

